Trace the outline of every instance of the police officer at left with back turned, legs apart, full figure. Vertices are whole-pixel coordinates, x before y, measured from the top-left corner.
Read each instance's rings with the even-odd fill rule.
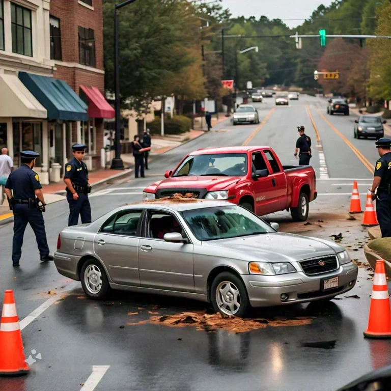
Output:
[[[10,174],[5,186],[10,210],[14,212],[14,237],[12,240],[12,266],[14,267],[19,266],[23,235],[27,223],[35,233],[41,262],[53,260],[53,257],[49,255],[45,222],[42,215],[42,212],[45,211],[45,199],[38,174],[33,171],[37,156],[39,156],[37,152],[22,151],[20,153],[21,166]]]

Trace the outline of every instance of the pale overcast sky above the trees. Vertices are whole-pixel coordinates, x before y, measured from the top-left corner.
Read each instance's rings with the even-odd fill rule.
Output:
[[[232,16],[264,15],[269,19],[305,19],[321,4],[329,6],[332,0],[222,0],[222,6],[231,10]],[[304,20],[284,20],[289,27],[296,27]]]

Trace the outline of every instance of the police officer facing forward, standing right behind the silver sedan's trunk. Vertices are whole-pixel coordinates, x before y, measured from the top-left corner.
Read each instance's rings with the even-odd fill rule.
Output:
[[[65,164],[64,182],[67,185],[67,201],[69,203],[68,226],[77,226],[79,215],[82,224],[91,222],[91,205],[88,194],[91,186],[88,183],[87,165],[84,158],[86,146],[72,145],[73,159]]]

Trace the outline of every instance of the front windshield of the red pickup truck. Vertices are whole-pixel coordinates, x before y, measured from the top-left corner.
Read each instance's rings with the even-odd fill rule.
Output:
[[[245,153],[220,153],[188,156],[173,175],[242,177],[247,174]]]

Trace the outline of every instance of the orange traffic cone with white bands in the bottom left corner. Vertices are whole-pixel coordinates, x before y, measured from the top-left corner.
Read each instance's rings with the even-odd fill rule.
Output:
[[[0,375],[24,375],[30,368],[24,361],[22,335],[14,292],[7,290],[4,296],[2,322],[0,324]]]

